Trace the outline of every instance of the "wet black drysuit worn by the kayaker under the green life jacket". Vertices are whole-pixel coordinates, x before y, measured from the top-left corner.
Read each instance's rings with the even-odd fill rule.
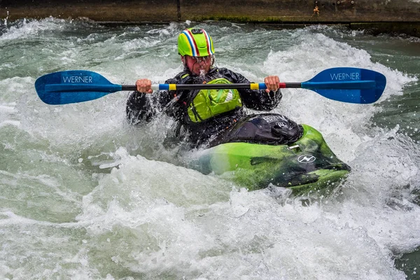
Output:
[[[176,75],[175,78],[166,80],[165,83],[176,84],[201,84],[208,83],[216,78],[225,78],[232,83],[250,83],[244,76],[225,68],[213,67],[203,76],[196,76],[188,70]],[[274,109],[281,100],[281,91],[250,90],[238,89],[243,106],[258,111],[270,111]],[[132,124],[149,121],[164,111],[169,116],[179,120],[179,130],[184,130],[188,134],[188,140],[193,147],[206,144],[214,146],[221,134],[230,130],[235,123],[246,116],[243,107],[221,113],[213,118],[204,120],[200,123],[193,123],[187,113],[188,105],[192,101],[194,91],[192,90],[169,90],[160,91],[157,94],[145,94],[132,92],[127,100],[127,119]],[[182,127],[182,128],[181,128]],[[181,128],[181,130],[180,130]],[[179,135],[183,137],[183,135]],[[209,143],[211,142],[211,143]]]

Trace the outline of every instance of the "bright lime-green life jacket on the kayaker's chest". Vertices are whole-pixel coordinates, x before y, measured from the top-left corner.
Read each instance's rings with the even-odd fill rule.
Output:
[[[211,80],[208,84],[231,83],[225,78]],[[241,96],[236,89],[200,90],[188,104],[188,116],[193,123],[200,123],[221,113],[226,113],[242,106]]]

